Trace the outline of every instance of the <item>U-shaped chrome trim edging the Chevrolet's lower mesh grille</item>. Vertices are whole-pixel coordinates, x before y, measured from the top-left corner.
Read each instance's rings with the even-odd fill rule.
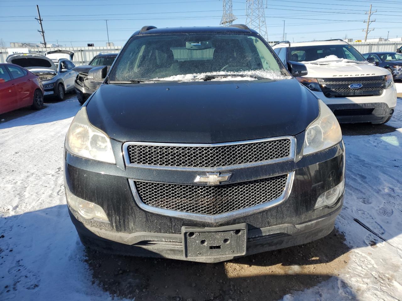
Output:
[[[181,219],[185,219],[185,220],[195,220],[195,221],[199,221],[199,222],[217,223],[217,222],[222,222],[225,220],[230,220],[232,218],[238,218],[241,216],[245,216],[246,214],[253,214],[256,212],[260,212],[265,209],[271,208],[273,206],[279,205],[280,203],[285,201],[290,195],[290,192],[291,192],[292,186],[293,186],[294,173],[295,173],[294,171],[288,173],[286,184],[285,184],[285,189],[283,190],[282,195],[280,197],[278,197],[277,199],[268,201],[268,202],[260,204],[260,205],[256,205],[256,206],[252,206],[252,207],[248,207],[248,208],[244,208],[244,209],[239,209],[236,211],[227,212],[227,213],[223,213],[223,214],[217,214],[216,216],[189,213],[189,212],[180,212],[180,211],[162,209],[162,208],[146,205],[142,202],[141,198],[139,197],[139,195],[137,193],[137,189],[135,189],[135,184],[134,184],[135,180],[129,179],[128,181],[129,181],[129,184],[131,187],[131,191],[133,193],[133,197],[135,199],[135,203],[137,203],[137,205],[145,211],[148,211],[148,212],[151,212],[154,214],[164,215],[164,216],[171,216],[173,218],[181,218]],[[278,175],[275,175],[275,176],[278,176]],[[271,176],[271,177],[275,177],[275,176]],[[180,185],[180,184],[178,184],[178,185]]]

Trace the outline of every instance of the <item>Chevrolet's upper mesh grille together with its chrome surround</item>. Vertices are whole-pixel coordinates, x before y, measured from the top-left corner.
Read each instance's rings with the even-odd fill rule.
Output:
[[[219,171],[294,159],[295,138],[214,144],[125,142],[123,155],[126,166]]]

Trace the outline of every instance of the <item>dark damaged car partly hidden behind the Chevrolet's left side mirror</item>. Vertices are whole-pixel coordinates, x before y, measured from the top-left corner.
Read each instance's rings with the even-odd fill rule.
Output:
[[[88,65],[77,66],[74,68],[74,71],[78,72],[74,86],[80,104],[84,104],[88,97],[91,96],[100,85],[99,83],[87,79],[88,71],[97,66],[110,67],[116,57],[117,53],[99,53],[89,62]]]

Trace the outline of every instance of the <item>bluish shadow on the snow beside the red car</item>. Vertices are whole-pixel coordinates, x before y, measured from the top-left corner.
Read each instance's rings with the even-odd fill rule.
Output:
[[[71,102],[74,102],[73,106]],[[0,129],[48,123],[70,118],[77,113],[80,107],[81,105],[75,94],[68,94],[61,102],[55,100],[45,102],[44,108],[39,111],[31,110],[30,107],[26,107],[1,114]]]

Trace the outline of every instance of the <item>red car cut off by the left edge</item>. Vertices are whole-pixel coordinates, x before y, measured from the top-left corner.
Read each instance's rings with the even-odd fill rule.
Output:
[[[31,106],[43,108],[43,85],[39,76],[14,64],[0,64],[0,114]]]

